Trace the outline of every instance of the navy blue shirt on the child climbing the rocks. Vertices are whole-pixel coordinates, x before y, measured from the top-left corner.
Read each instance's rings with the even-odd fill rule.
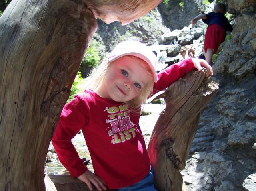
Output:
[[[224,14],[221,13],[208,13],[206,14],[206,19],[202,19],[204,23],[206,23],[208,26],[211,24],[218,24],[220,25],[225,31],[232,32],[233,27],[228,22],[228,19]]]

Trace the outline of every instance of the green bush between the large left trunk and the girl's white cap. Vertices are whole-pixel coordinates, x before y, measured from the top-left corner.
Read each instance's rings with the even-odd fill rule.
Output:
[[[92,40],[90,47],[87,49],[81,65],[87,65],[88,67],[96,67],[100,63],[100,52],[98,51],[98,42]]]

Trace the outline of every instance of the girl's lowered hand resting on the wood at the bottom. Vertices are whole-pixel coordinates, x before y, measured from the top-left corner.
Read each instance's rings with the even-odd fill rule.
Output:
[[[77,177],[80,181],[83,181],[87,184],[88,188],[92,190],[92,184],[98,189],[98,191],[106,190],[107,187],[105,186],[104,181],[92,173],[92,171],[87,170],[85,173]]]

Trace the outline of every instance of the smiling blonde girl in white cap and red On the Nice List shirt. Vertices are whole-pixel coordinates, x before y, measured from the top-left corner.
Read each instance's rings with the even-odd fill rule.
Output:
[[[109,189],[156,191],[146,144],[139,126],[147,98],[202,67],[202,59],[188,58],[156,73],[156,55],[136,41],[118,44],[94,70],[83,93],[62,110],[52,138],[60,162],[72,177],[101,191]],[[201,65],[200,65],[201,64]],[[71,139],[82,130],[94,173],[79,158]]]

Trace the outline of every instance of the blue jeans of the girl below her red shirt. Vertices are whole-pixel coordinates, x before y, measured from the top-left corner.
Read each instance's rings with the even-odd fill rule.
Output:
[[[154,175],[151,167],[150,172],[144,179],[134,185],[117,189],[118,191],[157,191],[154,187]]]

